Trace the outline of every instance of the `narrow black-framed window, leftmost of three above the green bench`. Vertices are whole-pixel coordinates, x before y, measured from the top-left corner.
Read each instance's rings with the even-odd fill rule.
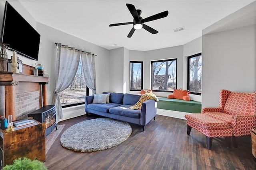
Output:
[[[143,89],[143,62],[130,61],[130,91]]]

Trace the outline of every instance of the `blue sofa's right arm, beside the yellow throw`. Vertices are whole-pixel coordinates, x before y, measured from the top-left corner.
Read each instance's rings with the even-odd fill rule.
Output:
[[[140,124],[146,126],[152,118],[156,116],[156,102],[155,100],[147,100],[142,103],[140,111]]]

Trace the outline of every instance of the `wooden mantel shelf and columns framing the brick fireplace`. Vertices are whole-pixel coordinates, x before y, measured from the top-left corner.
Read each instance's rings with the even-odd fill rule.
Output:
[[[40,107],[47,105],[48,77],[33,76],[12,72],[0,72],[0,86],[4,86],[5,117],[12,115],[16,120],[15,95],[22,92],[39,91]]]

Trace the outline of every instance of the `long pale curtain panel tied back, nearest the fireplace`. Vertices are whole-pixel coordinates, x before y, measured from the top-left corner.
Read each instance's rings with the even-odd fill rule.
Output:
[[[63,117],[62,107],[58,93],[62,92],[73,82],[78,69],[81,50],[69,48],[67,45],[58,44],[56,62],[56,85],[52,98],[52,104],[56,105],[56,123]]]

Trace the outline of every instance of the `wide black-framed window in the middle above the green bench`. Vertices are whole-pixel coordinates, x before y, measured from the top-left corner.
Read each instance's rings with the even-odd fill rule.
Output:
[[[155,92],[172,92],[177,88],[177,59],[151,62],[151,89]]]

